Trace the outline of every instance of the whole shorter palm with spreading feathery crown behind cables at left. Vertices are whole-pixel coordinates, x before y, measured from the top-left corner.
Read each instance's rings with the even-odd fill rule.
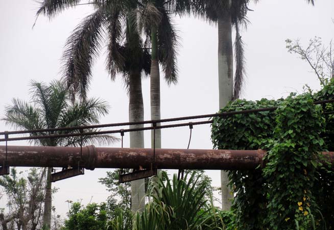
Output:
[[[69,101],[69,90],[61,81],[53,81],[50,85],[40,82],[31,82],[31,104],[28,102],[13,99],[12,105],[6,106],[6,124],[21,130],[49,129],[58,127],[74,127],[80,125],[90,125],[99,123],[99,118],[108,113],[108,106],[100,99],[87,99],[84,102]],[[96,130],[96,129],[95,129]],[[94,130],[90,130],[94,131]],[[31,133],[31,136],[74,133],[77,131],[49,131]],[[106,144],[114,142],[116,139],[110,135],[83,136],[82,143]],[[76,146],[81,143],[81,137],[58,137],[52,139],[36,139],[36,145],[41,146]],[[48,229],[51,226],[52,209],[52,168],[47,168],[43,225]]]

